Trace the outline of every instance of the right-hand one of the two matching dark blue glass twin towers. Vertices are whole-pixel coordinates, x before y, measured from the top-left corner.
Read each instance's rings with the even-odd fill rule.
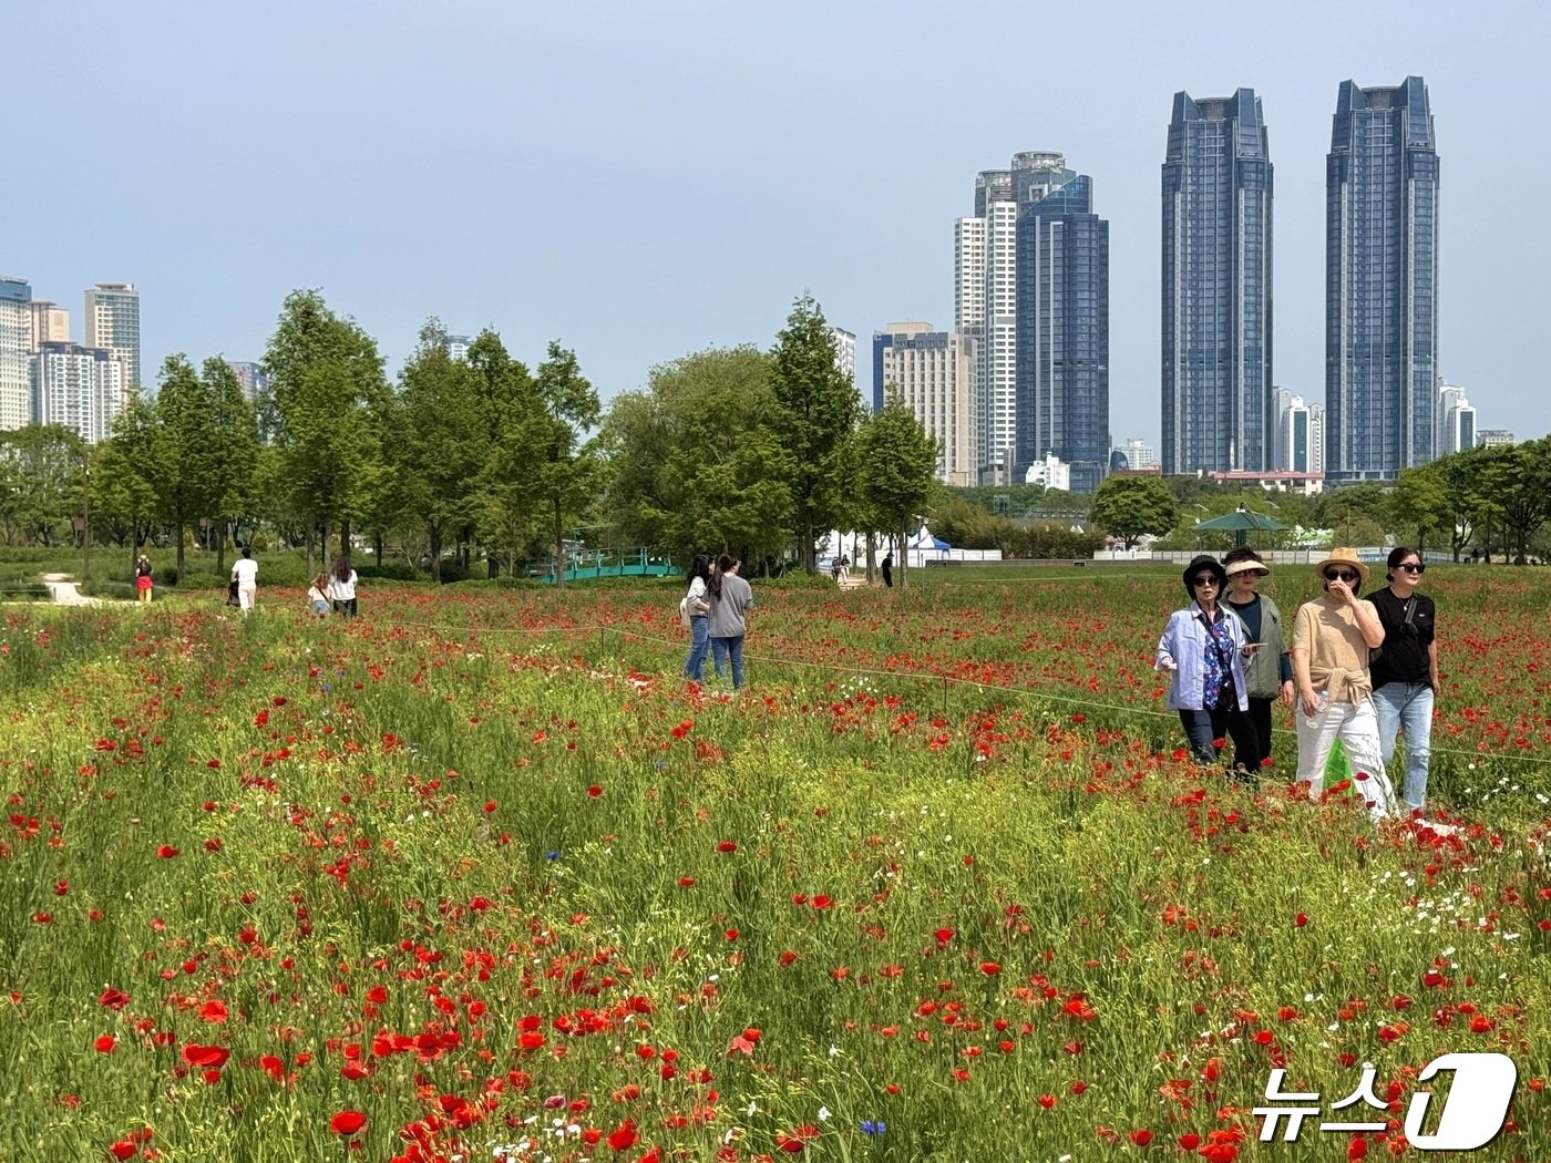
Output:
[[[1342,84],[1325,169],[1325,476],[1435,454],[1438,149],[1427,85]]]

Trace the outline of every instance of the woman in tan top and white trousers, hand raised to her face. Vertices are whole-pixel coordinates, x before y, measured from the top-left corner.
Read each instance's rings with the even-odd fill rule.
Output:
[[[1309,785],[1309,797],[1318,799],[1331,747],[1340,740],[1354,786],[1379,820],[1393,813],[1394,789],[1383,771],[1368,673],[1368,651],[1383,644],[1383,625],[1373,605],[1357,599],[1368,566],[1356,549],[1332,549],[1314,574],[1325,583],[1325,597],[1298,606],[1292,625],[1298,778]]]

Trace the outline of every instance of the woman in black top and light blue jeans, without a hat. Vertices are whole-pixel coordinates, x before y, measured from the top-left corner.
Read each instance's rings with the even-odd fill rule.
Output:
[[[1433,600],[1418,594],[1427,564],[1415,549],[1396,546],[1387,561],[1390,585],[1368,600],[1379,611],[1383,651],[1373,661],[1373,701],[1379,712],[1383,761],[1394,758],[1394,738],[1405,732],[1405,803],[1421,811],[1427,799],[1433,695],[1438,690],[1438,644]]]

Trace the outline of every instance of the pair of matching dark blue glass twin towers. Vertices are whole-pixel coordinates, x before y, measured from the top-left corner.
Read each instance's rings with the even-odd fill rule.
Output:
[[[1340,87],[1326,158],[1325,478],[1436,454],[1438,150],[1427,87]],[[1165,473],[1272,462],[1272,164],[1259,98],[1174,96],[1163,161]]]

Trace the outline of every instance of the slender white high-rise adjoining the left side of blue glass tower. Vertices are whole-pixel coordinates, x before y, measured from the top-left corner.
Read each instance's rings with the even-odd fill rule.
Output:
[[[954,226],[954,330],[976,340],[974,430],[983,484],[1011,481],[1017,374],[1017,202],[1010,169],[982,171]]]

